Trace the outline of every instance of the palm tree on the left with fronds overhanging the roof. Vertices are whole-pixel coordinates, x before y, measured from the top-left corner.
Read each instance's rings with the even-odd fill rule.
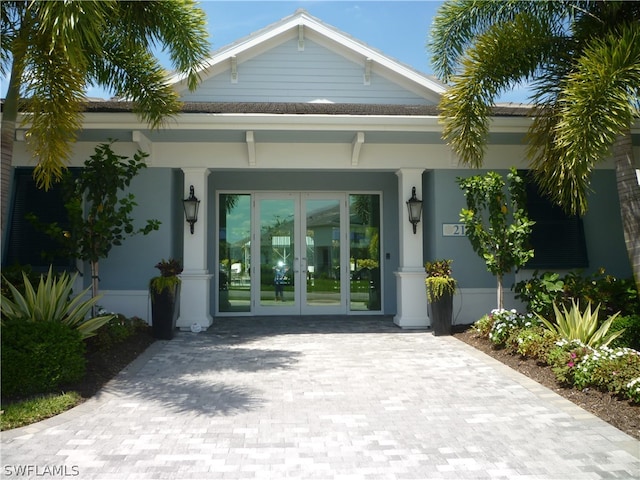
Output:
[[[0,13],[0,72],[9,76],[2,112],[4,231],[18,112],[26,115],[34,176],[48,189],[70,158],[88,86],[130,100],[157,128],[180,111],[180,102],[153,49],[166,50],[195,89],[209,42],[206,15],[192,0],[3,0]]]

